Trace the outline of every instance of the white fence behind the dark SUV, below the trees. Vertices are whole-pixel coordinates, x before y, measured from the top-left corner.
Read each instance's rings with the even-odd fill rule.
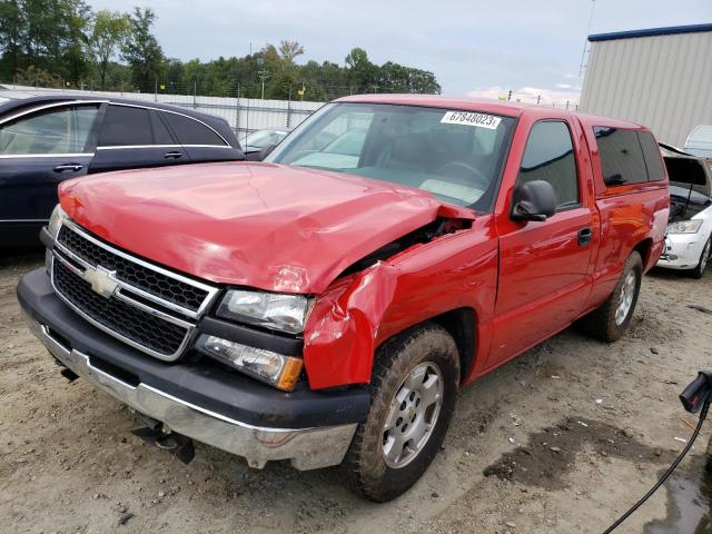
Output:
[[[314,111],[324,106],[324,102],[303,100],[263,100],[259,98],[166,95],[158,91],[154,93],[92,90],[78,91],[76,89],[36,88],[12,83],[0,85],[0,87],[23,92],[61,92],[66,95],[81,93],[95,95],[97,97],[121,97],[134,100],[168,103],[181,108],[190,108],[224,118],[235,130],[235,134],[240,140],[243,136],[265,128],[290,130]]]

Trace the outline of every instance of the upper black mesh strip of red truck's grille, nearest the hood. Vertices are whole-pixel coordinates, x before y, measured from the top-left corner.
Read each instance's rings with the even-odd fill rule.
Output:
[[[191,312],[198,312],[208,298],[207,290],[119,256],[85,238],[68,226],[60,228],[57,240],[88,264],[116,270],[116,277],[119,280]]]

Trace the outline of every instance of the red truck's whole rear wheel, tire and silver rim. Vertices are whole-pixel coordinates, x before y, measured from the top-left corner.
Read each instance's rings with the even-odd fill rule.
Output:
[[[642,278],[643,260],[637,251],[633,251],[611,296],[581,319],[581,325],[592,337],[612,343],[625,334],[637,304]]]

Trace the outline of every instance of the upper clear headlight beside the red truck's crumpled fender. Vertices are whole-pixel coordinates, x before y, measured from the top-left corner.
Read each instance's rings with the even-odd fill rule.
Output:
[[[301,334],[310,308],[304,295],[233,289],[220,303],[218,316],[270,330]]]

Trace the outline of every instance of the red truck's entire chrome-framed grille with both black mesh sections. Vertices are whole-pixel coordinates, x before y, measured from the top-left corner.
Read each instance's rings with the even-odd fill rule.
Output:
[[[103,285],[95,285],[97,274]],[[71,220],[59,229],[51,275],[57,294],[79,315],[164,360],[180,357],[218,290],[119,250]]]

